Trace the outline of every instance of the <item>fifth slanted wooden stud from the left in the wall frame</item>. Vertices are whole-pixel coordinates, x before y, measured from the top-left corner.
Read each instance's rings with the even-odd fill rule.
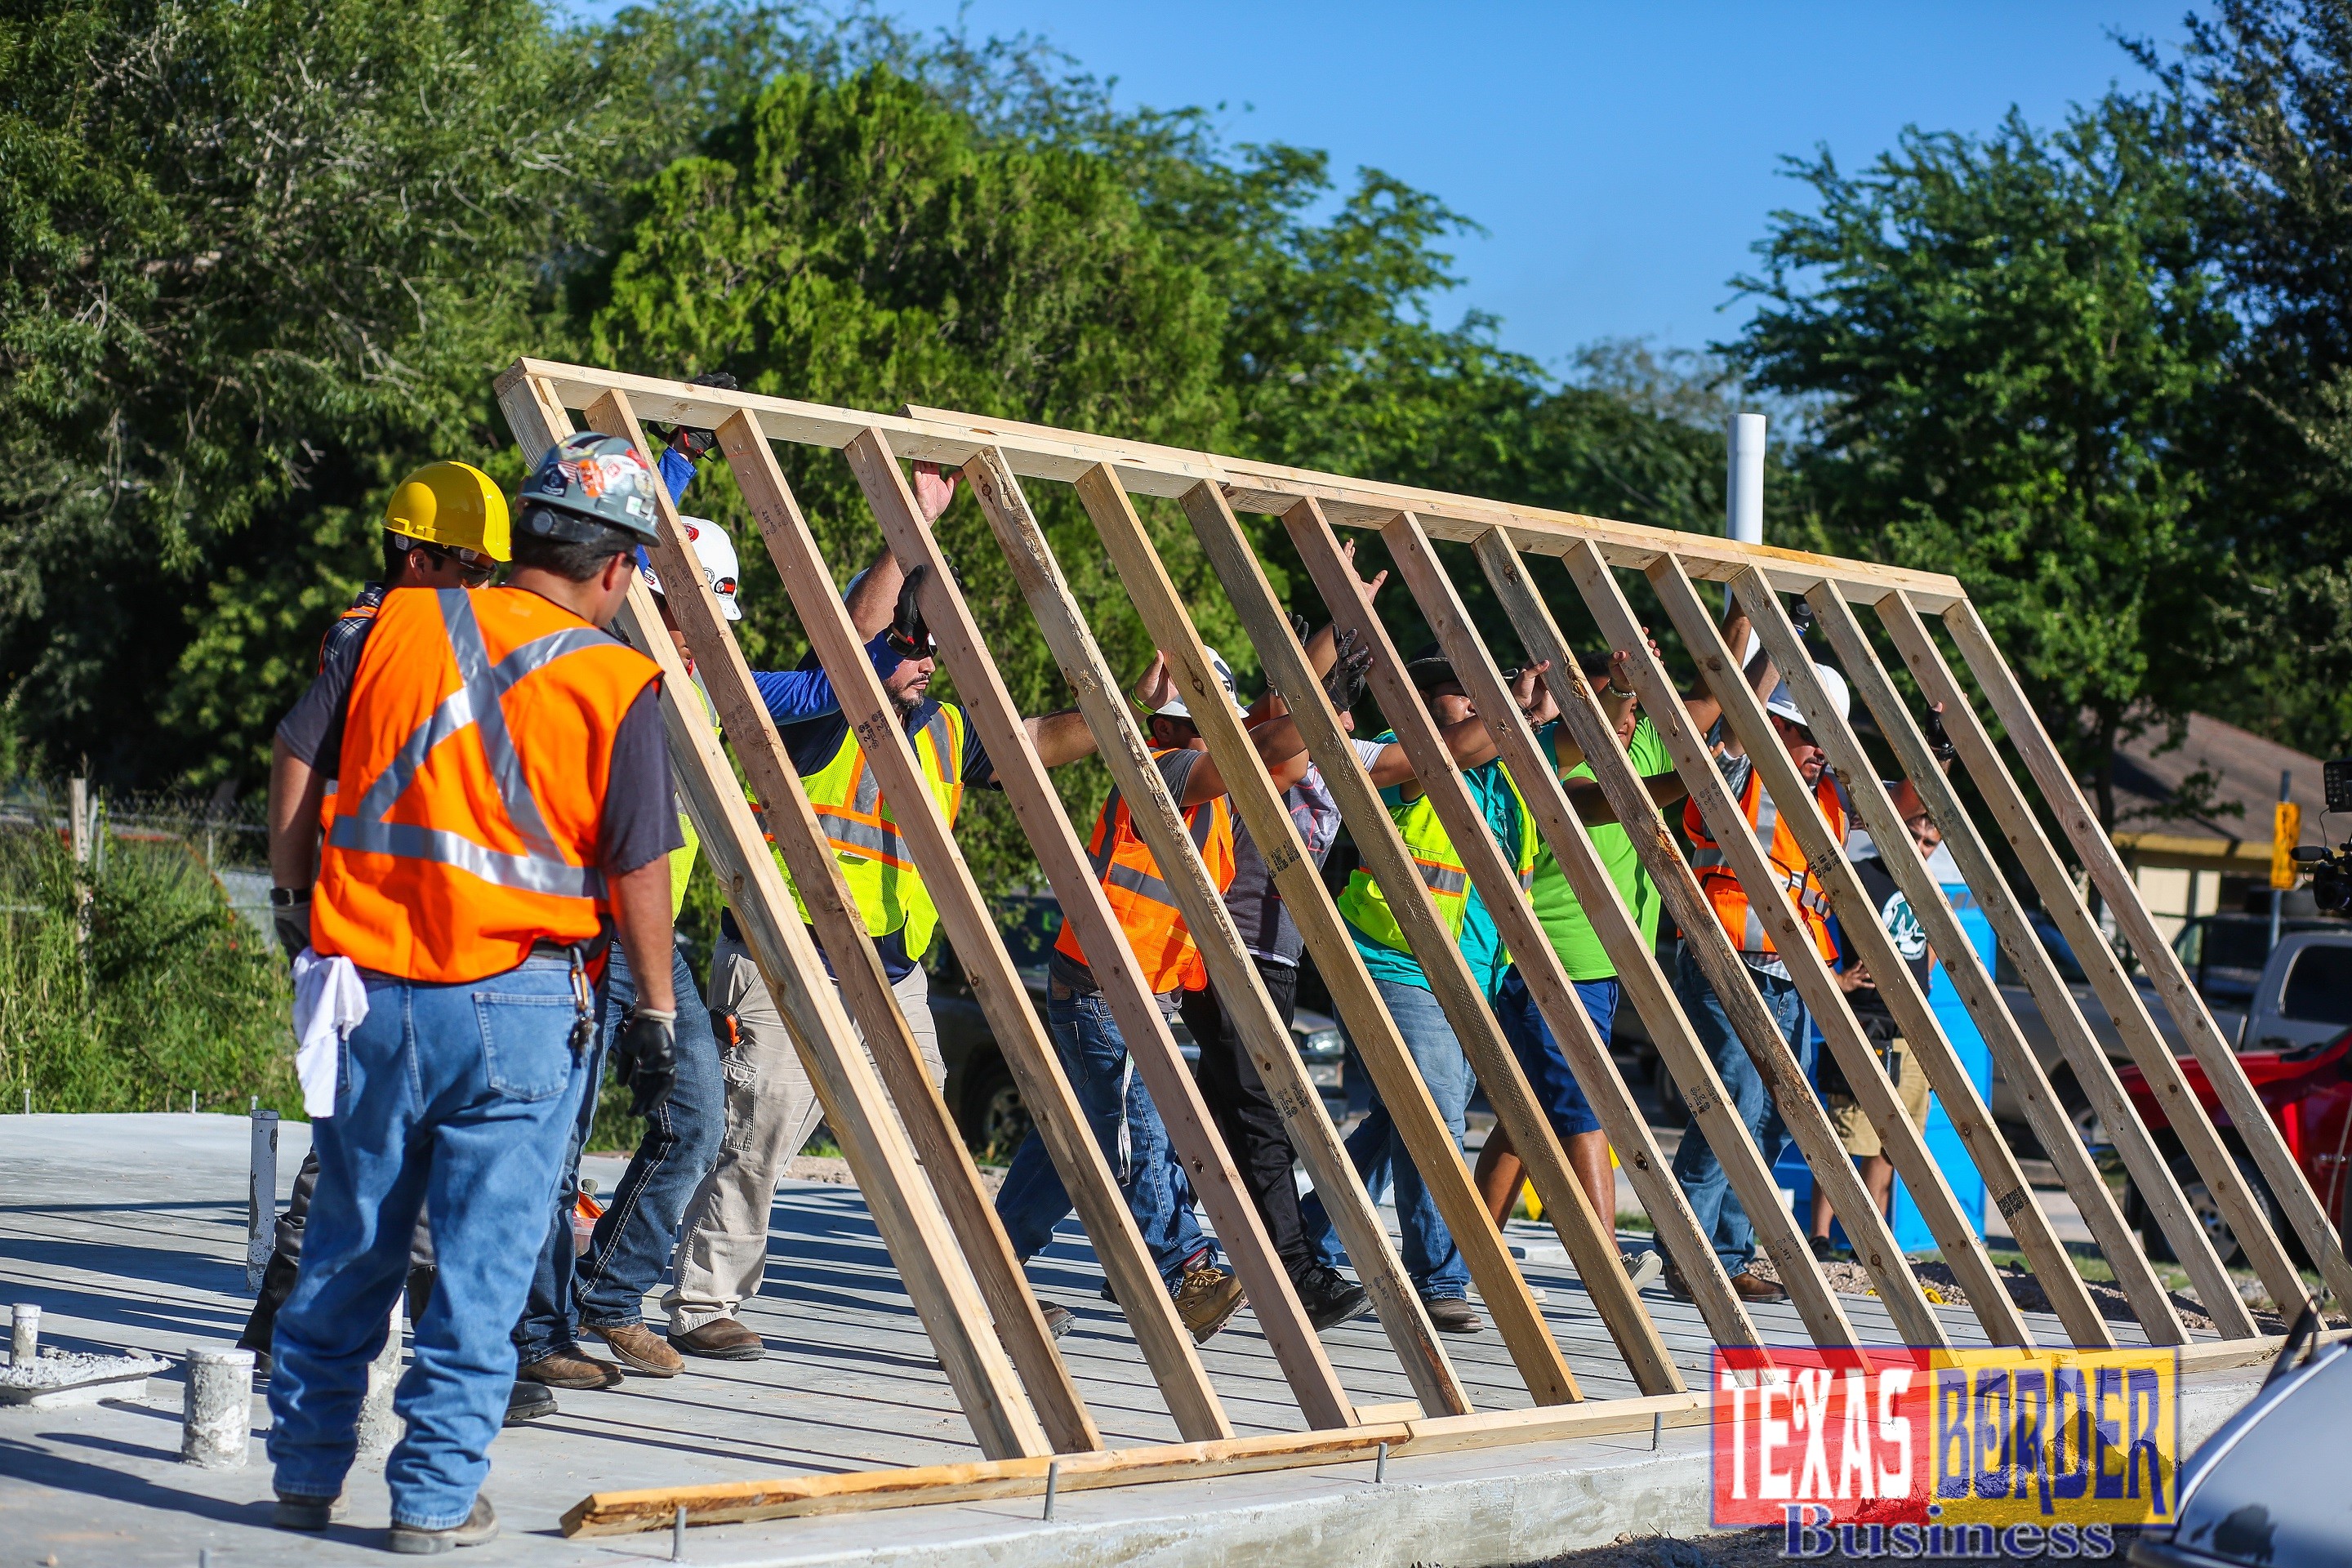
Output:
[[[1348,1255],[1357,1262],[1357,1276],[1371,1295],[1381,1326],[1388,1331],[1388,1340],[1397,1349],[1397,1359],[1404,1363],[1421,1406],[1465,1415],[1470,1396],[1463,1392],[1437,1331],[1430,1328],[1430,1316],[1414,1293],[1411,1276],[1397,1260],[1397,1251],[1388,1244],[1378,1211],[1355,1178],[1348,1147],[1341,1143],[1338,1128],[1331,1126],[1329,1112],[1324,1112],[1322,1093],[1308,1081],[1305,1063],[1298,1060],[1282,1016],[1265,997],[1256,964],[1240,950],[1232,919],[1225,912],[1223,898],[1216,898],[1214,886],[1207,882],[1207,870],[1200,865],[1192,839],[1183,832],[1181,813],[1174,811],[1174,802],[1162,799],[1167,795],[1164,788],[1155,790],[1160,771],[1150,764],[1150,745],[1129,715],[1117,677],[1110,672],[1101,646],[1096,646],[1094,632],[1087,630],[1087,618],[1061,574],[1061,564],[1054,559],[1054,550],[1047,545],[1044,529],[1037,527],[1037,517],[1030,512],[1028,496],[1021,494],[1021,482],[1014,480],[1002,454],[995,449],[971,458],[964,465],[964,477],[971,480],[971,489],[997,534],[1004,559],[1011,562],[1014,581],[1021,585],[1021,595],[1028,599],[1030,614],[1044,632],[1047,649],[1051,649],[1063,677],[1080,693],[1080,710],[1105,762],[1112,764],[1112,783],[1129,799],[1138,827],[1148,835],[1152,856],[1162,867],[1162,879],[1185,900],[1185,924],[1192,926],[1200,940],[1202,959],[1209,966],[1209,985],[1235,1018],[1268,1098],[1272,1098],[1275,1110],[1282,1114],[1291,1147],[1315,1180],[1315,1190],[1324,1194],[1324,1211],[1338,1227]],[[960,604],[962,595],[950,597]],[[962,672],[957,672],[957,689],[967,689]],[[1228,780],[1228,797],[1235,811],[1242,813],[1244,825],[1254,835],[1261,832],[1261,823],[1268,830],[1258,837],[1258,849],[1270,867],[1305,867],[1308,877],[1312,877],[1315,863],[1308,858],[1305,846],[1298,844],[1298,830],[1289,811],[1282,809],[1270,785],[1258,788],[1263,783],[1256,759],[1251,759],[1251,771],[1244,778]],[[1272,830],[1279,830],[1279,835]],[[1080,870],[1087,896],[1098,898],[1101,889],[1091,870],[1084,870],[1084,860],[1075,856],[1075,849],[1077,842],[1073,837],[1070,863]],[[1070,905],[1073,900],[1065,898],[1063,907]],[[1108,922],[1103,929],[1115,931],[1117,922]],[[1105,945],[1096,936],[1080,931],[1080,945],[1089,954],[1115,954],[1115,964],[1124,971],[1124,940]],[[1096,976],[1103,976],[1101,966]],[[1357,1418],[1364,1418],[1362,1408],[1357,1408]]]

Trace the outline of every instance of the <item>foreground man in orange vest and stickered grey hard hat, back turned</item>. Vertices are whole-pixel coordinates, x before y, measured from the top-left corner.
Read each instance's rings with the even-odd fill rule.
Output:
[[[562,440],[522,487],[510,583],[388,592],[348,686],[322,693],[343,738],[310,947],[339,969],[329,992],[365,990],[334,1110],[313,1121],[306,1258],[278,1316],[280,1528],[334,1514],[426,1211],[437,1276],[395,1396],[407,1436],[386,1462],[386,1544],[499,1533],[480,1486],[586,1088],[590,966],[614,936],[637,973],[614,1058],[637,1114],[670,1088],[682,839],[659,668],[600,630],[654,538],[656,482],[619,437]],[[273,820],[315,820],[315,795]]]

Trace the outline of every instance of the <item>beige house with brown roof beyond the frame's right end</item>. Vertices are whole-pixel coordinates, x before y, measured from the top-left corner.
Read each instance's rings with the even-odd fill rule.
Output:
[[[2201,712],[2190,715],[2187,741],[2161,750],[2166,741],[2154,729],[2114,750],[2114,846],[2171,938],[2190,917],[2244,910],[2251,891],[2270,889],[2279,773],[2303,806],[2305,844],[2319,842],[2326,792],[2319,757]]]

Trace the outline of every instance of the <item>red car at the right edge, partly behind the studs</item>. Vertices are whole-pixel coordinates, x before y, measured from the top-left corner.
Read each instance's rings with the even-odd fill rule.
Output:
[[[2239,1051],[2237,1060],[2246,1070],[2246,1079],[2253,1084],[2256,1093],[2263,1095],[2263,1105],[2270,1107],[2270,1119],[2286,1138],[2286,1150],[2296,1157],[2303,1180],[2307,1180],[2312,1192],[2319,1194],[2321,1208],[2326,1208],[2328,1220],[2333,1220],[2340,1232],[2345,1225],[2345,1159],[2352,1154],[2352,1032],[2338,1034],[2333,1041],[2319,1046]],[[2190,1208],[2213,1237],[2213,1248],[2220,1253],[2220,1260],[2237,1262],[2237,1237],[2230,1234],[2230,1225],[2220,1218],[2220,1206],[2213,1201],[2213,1194],[2206,1192],[2204,1178],[2197,1175],[2183,1154],[2180,1140],[2173,1135],[2171,1124],[2157,1107],[2157,1095],[2147,1088],[2145,1074],[2140,1074],[2138,1067],[2119,1065],[2117,1077],[2124,1081],[2124,1093],[2131,1095],[2133,1107],[2138,1107],[2140,1117],[2147,1121],[2147,1131],[2157,1135],[2157,1147],[2161,1147],[2171,1159],[2173,1175],[2180,1180],[2180,1192],[2187,1197]],[[2213,1117],[2213,1126],[2220,1128],[2230,1152],[2237,1154],[2237,1168],[2246,1175],[2246,1185],[2265,1206],[2272,1227],[2279,1232],[2279,1241],[2286,1244],[2286,1251],[2298,1262],[2307,1265],[2310,1260],[2303,1258],[2303,1246],[2279,1225],[2279,1206],[2270,1197],[2270,1185],[2253,1168],[2253,1159],[2246,1154],[2244,1140],[2239,1140],[2237,1131],[2230,1126],[2230,1117],[2220,1110],[2220,1098],[2213,1093],[2213,1084],[2206,1079],[2197,1058],[2180,1058],[2180,1077],[2187,1079],[2190,1088],[2197,1093],[2197,1103],[2206,1107],[2206,1114]],[[2124,1194],[2124,1222],[2147,1237],[2152,1258],[2169,1255],[2164,1234],[2154,1227],[2138,1190],[2129,1190]]]

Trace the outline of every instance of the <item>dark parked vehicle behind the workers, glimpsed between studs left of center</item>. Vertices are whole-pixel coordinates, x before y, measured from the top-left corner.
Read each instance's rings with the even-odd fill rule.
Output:
[[[1054,936],[1061,931],[1061,905],[1044,893],[1018,893],[997,907],[997,924],[1004,931],[1004,947],[1021,971],[1030,1006],[1044,1018],[1044,971],[1054,952]],[[988,1027],[964,969],[948,943],[936,943],[929,959],[931,971],[931,1018],[938,1023],[938,1053],[948,1065],[946,1100],[955,1114],[964,1143],[990,1159],[1011,1159],[1021,1140],[1028,1138],[1030,1117],[1021,1105],[1021,1088],[1004,1063],[995,1030]],[[1171,1025],[1176,1048],[1188,1063],[1200,1058],[1192,1032],[1178,1018]],[[1308,1079],[1324,1095],[1324,1107],[1334,1119],[1348,1112],[1345,1046],[1338,1023],[1324,1013],[1298,1009],[1291,1020],[1291,1041],[1308,1063]]]

